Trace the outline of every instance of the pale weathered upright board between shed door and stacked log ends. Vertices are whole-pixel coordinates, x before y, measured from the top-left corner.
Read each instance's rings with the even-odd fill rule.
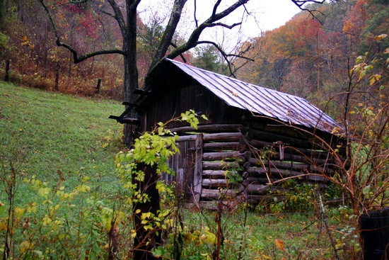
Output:
[[[202,195],[202,142],[203,135],[199,134],[196,136],[196,142],[194,147],[194,174],[193,174],[193,193],[194,203],[199,203],[200,196]]]

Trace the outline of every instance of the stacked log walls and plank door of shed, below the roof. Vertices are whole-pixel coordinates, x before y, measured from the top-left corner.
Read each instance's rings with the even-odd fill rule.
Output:
[[[292,178],[325,185],[337,171],[337,162],[323,140],[335,147],[336,138],[318,139],[288,128],[264,124],[173,128],[180,135],[180,154],[170,159],[176,182],[185,186],[186,198],[194,203],[228,197],[257,204]]]

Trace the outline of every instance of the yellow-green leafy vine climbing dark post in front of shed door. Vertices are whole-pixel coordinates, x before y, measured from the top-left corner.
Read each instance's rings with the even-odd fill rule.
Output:
[[[161,232],[168,228],[167,222],[172,223],[167,217],[174,208],[160,207],[160,193],[169,191],[169,188],[158,181],[158,175],[162,172],[174,174],[168,166],[168,158],[179,152],[176,144],[179,137],[170,132],[166,125],[179,120],[197,129],[197,117],[190,110],[166,123],[158,123],[154,130],[144,132],[137,138],[127,154],[120,152],[116,156],[117,170],[128,191],[126,203],[132,205],[134,211],[135,228],[132,237],[135,257],[144,257],[151,251],[160,255],[158,245],[161,244]],[[207,120],[205,115],[202,118]]]

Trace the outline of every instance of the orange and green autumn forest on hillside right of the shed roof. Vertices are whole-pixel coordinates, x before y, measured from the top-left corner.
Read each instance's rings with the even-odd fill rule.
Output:
[[[345,103],[342,94],[347,92],[356,59],[366,56],[366,64],[376,56],[385,60],[388,38],[377,41],[377,37],[389,32],[389,1],[334,1],[311,4],[308,9],[315,10],[314,18],[300,12],[284,26],[246,43],[256,46],[255,61],[242,67],[237,76],[306,98],[339,119],[339,105]],[[388,73],[388,68],[378,65],[371,74],[380,69]],[[371,92],[379,87],[371,89],[369,80],[360,82],[361,91],[369,92],[360,100],[366,105],[369,98],[379,96]],[[387,84],[385,79],[380,82],[380,86]]]

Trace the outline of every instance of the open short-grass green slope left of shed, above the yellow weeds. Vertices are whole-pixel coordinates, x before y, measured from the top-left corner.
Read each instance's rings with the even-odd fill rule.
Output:
[[[113,159],[122,149],[122,125],[108,119],[122,113],[117,101],[79,98],[0,82],[0,154],[23,178],[68,185],[82,176],[91,186],[110,189]],[[109,191],[108,191],[109,192]]]

